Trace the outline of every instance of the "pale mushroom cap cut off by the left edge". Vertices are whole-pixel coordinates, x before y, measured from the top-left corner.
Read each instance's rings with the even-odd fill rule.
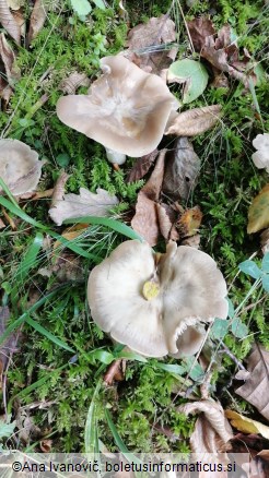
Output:
[[[44,162],[38,160],[36,151],[22,141],[0,140],[0,178],[14,195],[35,190],[43,164]]]

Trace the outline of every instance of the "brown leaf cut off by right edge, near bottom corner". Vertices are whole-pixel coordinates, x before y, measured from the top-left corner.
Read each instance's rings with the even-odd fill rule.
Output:
[[[247,370],[250,373],[245,384],[235,392],[269,420],[269,351],[261,345],[255,345],[247,360]]]

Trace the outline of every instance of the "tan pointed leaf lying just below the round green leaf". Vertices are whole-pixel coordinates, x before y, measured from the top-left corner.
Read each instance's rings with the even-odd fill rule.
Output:
[[[221,106],[212,105],[184,111],[168,124],[165,134],[177,136],[195,136],[210,130],[220,119]]]

